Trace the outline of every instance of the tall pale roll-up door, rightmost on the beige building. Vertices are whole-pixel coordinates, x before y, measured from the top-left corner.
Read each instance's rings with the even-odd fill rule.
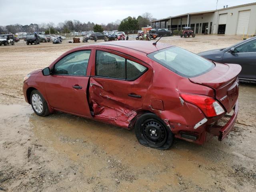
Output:
[[[237,23],[237,35],[247,34],[251,10],[240,11]]]

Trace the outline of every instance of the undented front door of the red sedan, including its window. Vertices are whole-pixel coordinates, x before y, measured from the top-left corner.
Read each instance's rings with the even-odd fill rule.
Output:
[[[60,59],[46,76],[47,100],[54,109],[91,117],[87,100],[91,50],[71,52]],[[89,67],[88,67],[89,66]]]

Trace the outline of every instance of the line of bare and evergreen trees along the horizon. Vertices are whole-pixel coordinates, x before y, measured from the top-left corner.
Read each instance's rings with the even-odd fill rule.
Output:
[[[46,34],[48,34],[49,30],[52,34],[57,32],[69,33],[73,30],[81,32],[92,30],[94,30],[94,32],[102,32],[103,30],[140,30],[142,27],[150,25],[152,20],[156,19],[152,18],[152,14],[146,12],[137,18],[129,16],[123,20],[116,20],[115,22],[110,22],[108,24],[94,24],[94,22],[82,23],[79,20],[66,20],[57,25],[53,22],[30,25],[11,24],[0,26],[0,34],[15,34],[17,32],[46,32]]]

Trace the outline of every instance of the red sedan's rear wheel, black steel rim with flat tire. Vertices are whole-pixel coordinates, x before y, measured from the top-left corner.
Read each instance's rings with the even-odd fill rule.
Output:
[[[166,150],[172,146],[173,134],[156,114],[141,115],[134,127],[140,144],[160,150]]]

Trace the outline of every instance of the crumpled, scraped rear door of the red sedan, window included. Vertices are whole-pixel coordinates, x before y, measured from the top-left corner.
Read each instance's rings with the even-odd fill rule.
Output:
[[[142,108],[152,69],[119,52],[98,48],[92,68],[89,102],[95,118],[124,126]]]

